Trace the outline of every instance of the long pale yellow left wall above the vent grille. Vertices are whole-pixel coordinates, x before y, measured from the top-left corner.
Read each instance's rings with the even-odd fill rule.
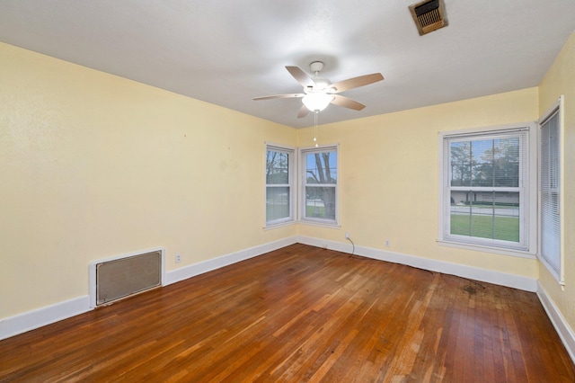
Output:
[[[296,235],[263,230],[264,141],[294,129],[0,44],[0,318],[88,294],[88,264],[166,269]]]

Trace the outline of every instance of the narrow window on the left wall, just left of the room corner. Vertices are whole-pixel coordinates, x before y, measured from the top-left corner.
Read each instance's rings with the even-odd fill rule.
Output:
[[[266,145],[266,227],[294,220],[294,153]]]

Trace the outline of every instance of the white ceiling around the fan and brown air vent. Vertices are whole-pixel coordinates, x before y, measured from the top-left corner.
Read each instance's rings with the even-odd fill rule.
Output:
[[[0,40],[295,128],[285,66],[325,63],[332,82],[380,72],[320,123],[538,85],[575,30],[575,0],[445,0],[420,36],[417,0],[0,0]]]

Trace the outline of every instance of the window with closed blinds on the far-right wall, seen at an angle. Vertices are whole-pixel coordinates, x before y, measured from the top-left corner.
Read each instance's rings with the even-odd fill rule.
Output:
[[[551,112],[546,113],[540,124],[539,206],[541,209],[541,241],[539,255],[547,269],[562,283],[560,117],[559,103],[557,103]]]

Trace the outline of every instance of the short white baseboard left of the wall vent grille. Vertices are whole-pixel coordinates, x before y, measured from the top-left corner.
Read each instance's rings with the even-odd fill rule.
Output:
[[[0,319],[0,340],[90,311],[90,296],[41,307],[17,316]]]

